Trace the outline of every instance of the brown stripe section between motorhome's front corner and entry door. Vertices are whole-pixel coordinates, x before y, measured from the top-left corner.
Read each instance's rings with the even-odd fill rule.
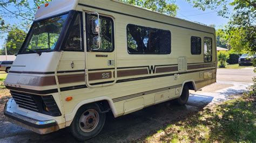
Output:
[[[71,82],[85,82],[84,74],[77,75],[60,75],[58,76],[59,84],[71,83]]]

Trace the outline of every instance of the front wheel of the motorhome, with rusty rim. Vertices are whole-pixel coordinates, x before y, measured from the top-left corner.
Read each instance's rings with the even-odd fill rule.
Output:
[[[102,131],[105,120],[106,114],[101,113],[96,104],[85,105],[77,111],[70,130],[79,141],[91,139]]]

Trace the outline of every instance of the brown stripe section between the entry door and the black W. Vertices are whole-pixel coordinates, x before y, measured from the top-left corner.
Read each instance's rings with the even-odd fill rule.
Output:
[[[130,69],[117,71],[117,77],[136,76],[148,74],[147,69]]]

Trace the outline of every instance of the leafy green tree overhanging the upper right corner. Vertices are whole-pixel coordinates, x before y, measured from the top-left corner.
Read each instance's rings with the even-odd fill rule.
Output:
[[[218,10],[218,15],[228,17],[228,5],[234,13],[225,28],[228,44],[234,51],[256,52],[255,0],[187,0],[201,10]],[[220,8],[221,7],[221,8]]]

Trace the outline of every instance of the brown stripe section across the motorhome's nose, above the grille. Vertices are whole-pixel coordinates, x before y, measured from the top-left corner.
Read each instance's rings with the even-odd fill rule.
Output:
[[[32,85],[32,86],[46,86],[46,85],[55,85],[54,76],[38,77],[30,76],[26,78],[19,78],[17,84]]]

